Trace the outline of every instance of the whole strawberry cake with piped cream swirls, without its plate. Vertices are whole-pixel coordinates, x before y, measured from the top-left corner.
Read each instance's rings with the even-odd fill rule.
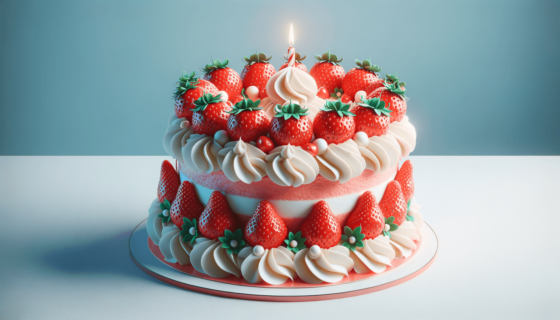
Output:
[[[244,57],[241,75],[213,60],[176,83],[176,164],[161,165],[148,242],[169,265],[244,285],[387,272],[422,237],[412,163],[399,166],[416,145],[404,82],[369,59],[344,72],[330,52],[309,72],[295,52],[278,71],[270,58]]]

